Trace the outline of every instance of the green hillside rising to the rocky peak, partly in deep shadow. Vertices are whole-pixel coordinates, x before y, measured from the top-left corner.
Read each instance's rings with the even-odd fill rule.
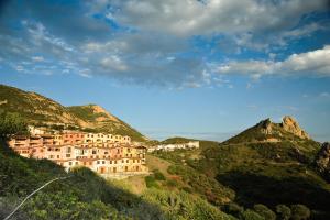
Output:
[[[288,119],[296,130],[285,124]],[[222,193],[206,194],[210,195],[206,198],[221,204],[227,191],[230,201],[220,206],[240,219],[242,210],[257,204],[273,211],[283,205],[301,204],[311,210],[311,219],[329,219],[330,185],[314,165],[320,144],[292,119],[286,117],[282,123],[264,120],[223,143],[205,142],[199,150],[153,155],[170,162],[169,173],[180,176],[195,193],[206,190],[201,186],[216,179]],[[207,180],[195,174],[205,175]],[[216,185],[206,188],[210,186]],[[233,194],[228,194],[231,190]]]

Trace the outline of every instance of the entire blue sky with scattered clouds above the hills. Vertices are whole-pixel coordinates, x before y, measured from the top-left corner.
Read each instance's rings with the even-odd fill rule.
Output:
[[[1,0],[0,84],[100,105],[152,139],[293,116],[330,141],[330,2]]]

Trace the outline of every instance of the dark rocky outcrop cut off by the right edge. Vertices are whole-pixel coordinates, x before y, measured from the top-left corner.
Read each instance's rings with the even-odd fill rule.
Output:
[[[330,182],[330,143],[326,142],[322,144],[316,157],[316,166],[318,172]]]

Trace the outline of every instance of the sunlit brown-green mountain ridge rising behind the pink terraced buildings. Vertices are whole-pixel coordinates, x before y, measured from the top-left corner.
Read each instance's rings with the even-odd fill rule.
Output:
[[[86,131],[130,135],[135,141],[146,141],[135,129],[97,105],[64,107],[31,91],[0,85],[0,108],[18,112],[29,124],[47,125]]]

